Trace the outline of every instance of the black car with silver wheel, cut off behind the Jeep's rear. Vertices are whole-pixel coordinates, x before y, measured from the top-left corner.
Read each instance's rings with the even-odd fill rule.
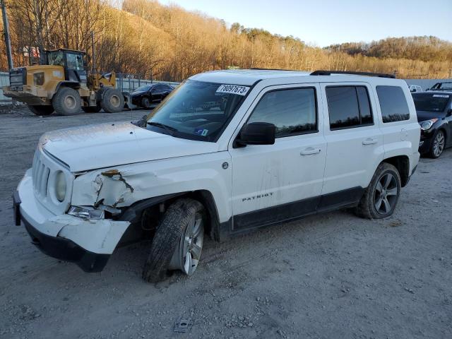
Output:
[[[412,93],[412,98],[421,126],[419,152],[439,157],[444,148],[452,146],[452,93]]]

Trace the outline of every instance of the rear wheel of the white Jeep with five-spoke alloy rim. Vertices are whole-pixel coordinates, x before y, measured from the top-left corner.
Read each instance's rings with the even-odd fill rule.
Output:
[[[387,218],[396,209],[400,188],[400,174],[396,167],[382,162],[364,191],[355,213],[362,218]]]

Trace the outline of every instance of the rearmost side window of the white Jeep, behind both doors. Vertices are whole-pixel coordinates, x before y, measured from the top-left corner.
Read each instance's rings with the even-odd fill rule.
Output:
[[[399,86],[376,86],[383,122],[410,119],[410,109],[403,89]]]

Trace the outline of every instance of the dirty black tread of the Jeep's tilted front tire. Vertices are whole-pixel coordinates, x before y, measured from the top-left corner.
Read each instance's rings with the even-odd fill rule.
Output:
[[[149,283],[165,280],[169,263],[189,221],[203,205],[191,198],[181,198],[167,209],[155,231],[150,253],[143,268],[143,279]]]

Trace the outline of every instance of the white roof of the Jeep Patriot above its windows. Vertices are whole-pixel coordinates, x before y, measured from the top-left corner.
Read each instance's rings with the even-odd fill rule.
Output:
[[[311,72],[303,71],[285,71],[279,69],[233,69],[221,71],[209,71],[206,73],[199,73],[191,76],[189,79],[196,81],[206,81],[208,83],[225,83],[234,85],[253,85],[256,81],[278,78],[300,78],[300,83],[303,82],[340,82],[340,81],[360,81],[366,78],[367,81],[374,83],[385,83],[386,81],[397,81],[392,78],[376,78],[374,76],[362,76],[356,74],[338,74],[331,73],[331,76],[310,76]],[[309,80],[307,77],[310,77]],[[320,78],[319,78],[320,77]],[[331,78],[333,77],[333,78]],[[352,80],[353,79],[353,80]],[[371,80],[372,79],[372,80]]]

